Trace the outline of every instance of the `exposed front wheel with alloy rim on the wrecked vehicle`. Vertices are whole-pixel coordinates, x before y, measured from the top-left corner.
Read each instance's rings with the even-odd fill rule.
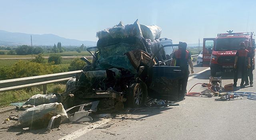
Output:
[[[148,99],[147,86],[144,82],[135,82],[130,85],[127,92],[126,105],[130,108],[139,108],[145,105]]]

